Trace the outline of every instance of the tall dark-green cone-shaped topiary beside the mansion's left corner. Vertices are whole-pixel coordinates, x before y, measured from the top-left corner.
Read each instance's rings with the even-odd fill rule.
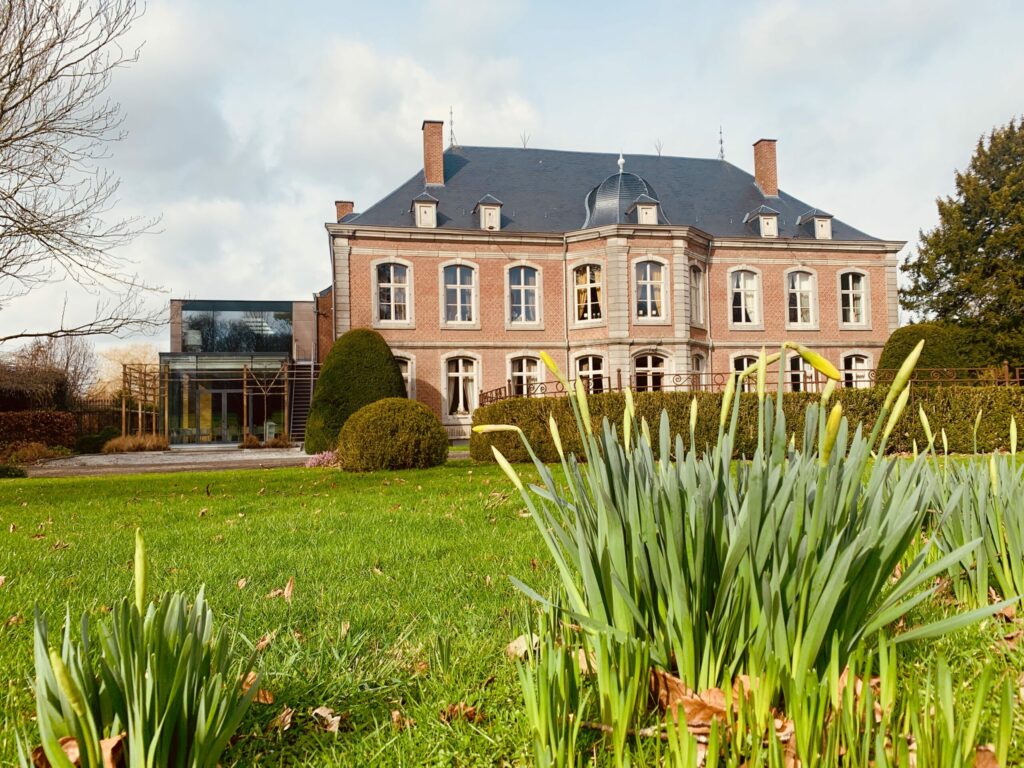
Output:
[[[345,421],[364,406],[404,396],[401,369],[384,337],[368,328],[349,331],[324,360],[306,420],[306,453],[333,451]]]

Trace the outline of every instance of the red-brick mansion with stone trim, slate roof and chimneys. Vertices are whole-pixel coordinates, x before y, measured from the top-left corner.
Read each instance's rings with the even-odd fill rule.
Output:
[[[720,159],[445,148],[441,122],[422,130],[422,170],[361,213],[336,204],[316,346],[378,330],[452,437],[481,392],[550,378],[541,350],[595,390],[696,388],[796,340],[857,386],[897,326],[903,243],[782,191],[773,139],[752,176]],[[802,365],[785,361],[795,389]]]

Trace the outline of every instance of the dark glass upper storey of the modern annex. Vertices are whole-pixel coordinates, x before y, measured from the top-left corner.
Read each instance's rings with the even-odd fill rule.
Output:
[[[292,351],[292,304],[287,301],[183,301],[183,352]]]

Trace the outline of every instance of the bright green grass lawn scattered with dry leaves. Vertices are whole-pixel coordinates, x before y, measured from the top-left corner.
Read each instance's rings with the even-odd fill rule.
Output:
[[[0,765],[15,760],[16,730],[33,727],[34,603],[52,627],[66,604],[77,621],[127,594],[136,526],[146,535],[151,591],[206,584],[242,642],[278,630],[259,660],[275,701],[254,705],[225,766],[528,763],[518,681],[504,654],[523,630],[527,601],[508,575],[546,591],[556,574],[509,490],[499,469],[468,462],[369,475],[275,469],[0,482]],[[291,577],[291,606],[265,597]],[[951,609],[926,603],[908,625]],[[914,685],[942,650],[962,707],[989,659],[997,680],[1019,681],[1016,689],[1024,642],[1001,639],[1014,630],[990,620],[901,647],[900,675]],[[441,711],[460,701],[483,721],[442,722]],[[310,711],[322,705],[345,714],[339,734],[314,725]],[[268,731],[284,706],[295,710],[292,727]],[[415,726],[396,729],[393,711]],[[1015,735],[1020,760],[1020,706]]]

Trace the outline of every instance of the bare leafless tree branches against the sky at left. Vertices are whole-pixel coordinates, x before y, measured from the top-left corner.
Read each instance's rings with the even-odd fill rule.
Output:
[[[155,220],[112,216],[120,180],[101,167],[124,137],[113,73],[138,49],[121,40],[141,15],[135,0],[5,0],[0,4],[0,310],[71,280],[98,299],[94,319],[11,334],[61,338],[157,325],[155,290],[118,250]]]

